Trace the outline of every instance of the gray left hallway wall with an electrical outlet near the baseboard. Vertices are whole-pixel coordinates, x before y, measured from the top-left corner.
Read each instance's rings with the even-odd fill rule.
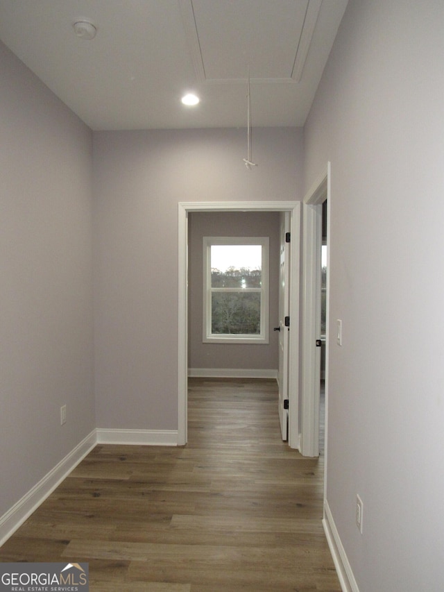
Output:
[[[92,133],[1,43],[0,79],[1,516],[95,418]]]

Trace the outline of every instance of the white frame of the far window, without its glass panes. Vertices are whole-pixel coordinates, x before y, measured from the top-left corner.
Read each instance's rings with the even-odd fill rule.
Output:
[[[211,247],[212,245],[261,245],[262,287],[258,288],[212,288]],[[269,310],[269,238],[268,237],[203,237],[203,343],[218,344],[268,344]],[[259,335],[223,335],[212,333],[212,293],[214,291],[260,291],[261,325]]]

